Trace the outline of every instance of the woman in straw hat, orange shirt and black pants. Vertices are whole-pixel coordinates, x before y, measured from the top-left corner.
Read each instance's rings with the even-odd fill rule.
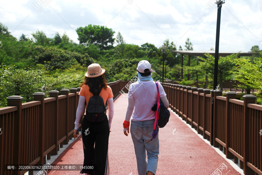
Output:
[[[108,104],[108,117],[102,122],[91,122],[85,115],[82,121],[82,140],[84,148],[84,164],[81,170],[81,174],[86,175],[106,175],[109,174],[108,166],[108,139],[111,128],[111,122],[114,115],[114,102],[113,92],[107,85],[105,78],[105,69],[102,69],[99,64],[91,64],[87,68],[85,73],[85,81],[80,85],[81,90],[79,92],[79,103],[77,107],[74,138],[77,138],[77,129],[82,112],[84,110],[84,104],[88,105],[89,99],[97,91],[100,92],[99,96],[102,97],[104,104]],[[89,88],[90,87],[90,88]],[[97,91],[96,91],[97,90]],[[84,131],[84,132],[83,132]],[[94,167],[94,169],[90,167]]]

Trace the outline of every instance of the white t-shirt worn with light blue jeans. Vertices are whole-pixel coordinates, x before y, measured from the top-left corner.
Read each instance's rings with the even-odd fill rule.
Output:
[[[159,97],[165,97],[162,85],[158,83]],[[140,81],[132,83],[128,91],[128,99],[134,98],[134,111],[131,120],[145,121],[155,119],[155,111],[151,110],[157,101],[155,81]]]

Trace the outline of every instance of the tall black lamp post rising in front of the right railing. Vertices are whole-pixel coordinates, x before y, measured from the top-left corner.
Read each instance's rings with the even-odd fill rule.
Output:
[[[221,8],[222,8],[223,3],[225,3],[225,0],[216,0],[216,4],[217,4],[217,31],[216,31],[214,87],[213,87],[213,90],[215,90],[216,87],[217,87],[220,19],[221,19]],[[212,97],[212,106],[211,106],[211,134],[210,134],[210,144],[211,145],[214,145],[214,126],[213,126],[213,123],[214,123],[214,93],[213,93],[213,97]]]

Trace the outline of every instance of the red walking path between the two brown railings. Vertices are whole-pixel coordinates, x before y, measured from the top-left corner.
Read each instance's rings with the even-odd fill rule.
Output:
[[[138,175],[131,135],[127,137],[123,133],[123,121],[128,106],[126,97],[126,94],[125,97],[121,95],[114,101],[114,118],[109,135],[110,175]],[[175,128],[176,131],[174,131]],[[171,112],[167,126],[160,128],[159,145],[157,175],[210,175],[222,163],[226,167],[222,167],[220,175],[240,174],[173,112]],[[82,164],[83,160],[84,153],[80,135],[52,165]],[[48,174],[79,174],[79,171],[49,171]]]

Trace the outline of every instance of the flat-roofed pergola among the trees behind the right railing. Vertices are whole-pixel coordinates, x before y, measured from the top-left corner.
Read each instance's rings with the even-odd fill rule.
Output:
[[[175,53],[179,53],[181,54],[181,79],[183,79],[183,62],[184,62],[184,55],[188,55],[188,66],[190,66],[190,61],[191,61],[191,56],[205,56],[205,53],[208,53],[210,55],[215,56],[215,51],[213,50],[208,50],[208,51],[194,51],[194,50],[176,50],[176,51],[171,51],[171,52],[175,52]],[[229,51],[219,51],[219,56],[229,56],[232,55],[234,53],[238,53],[238,58],[240,58],[240,56],[252,56],[254,54],[258,55],[259,53],[255,53],[255,52],[229,52]],[[190,78],[190,74],[187,74],[187,80],[189,80]]]

